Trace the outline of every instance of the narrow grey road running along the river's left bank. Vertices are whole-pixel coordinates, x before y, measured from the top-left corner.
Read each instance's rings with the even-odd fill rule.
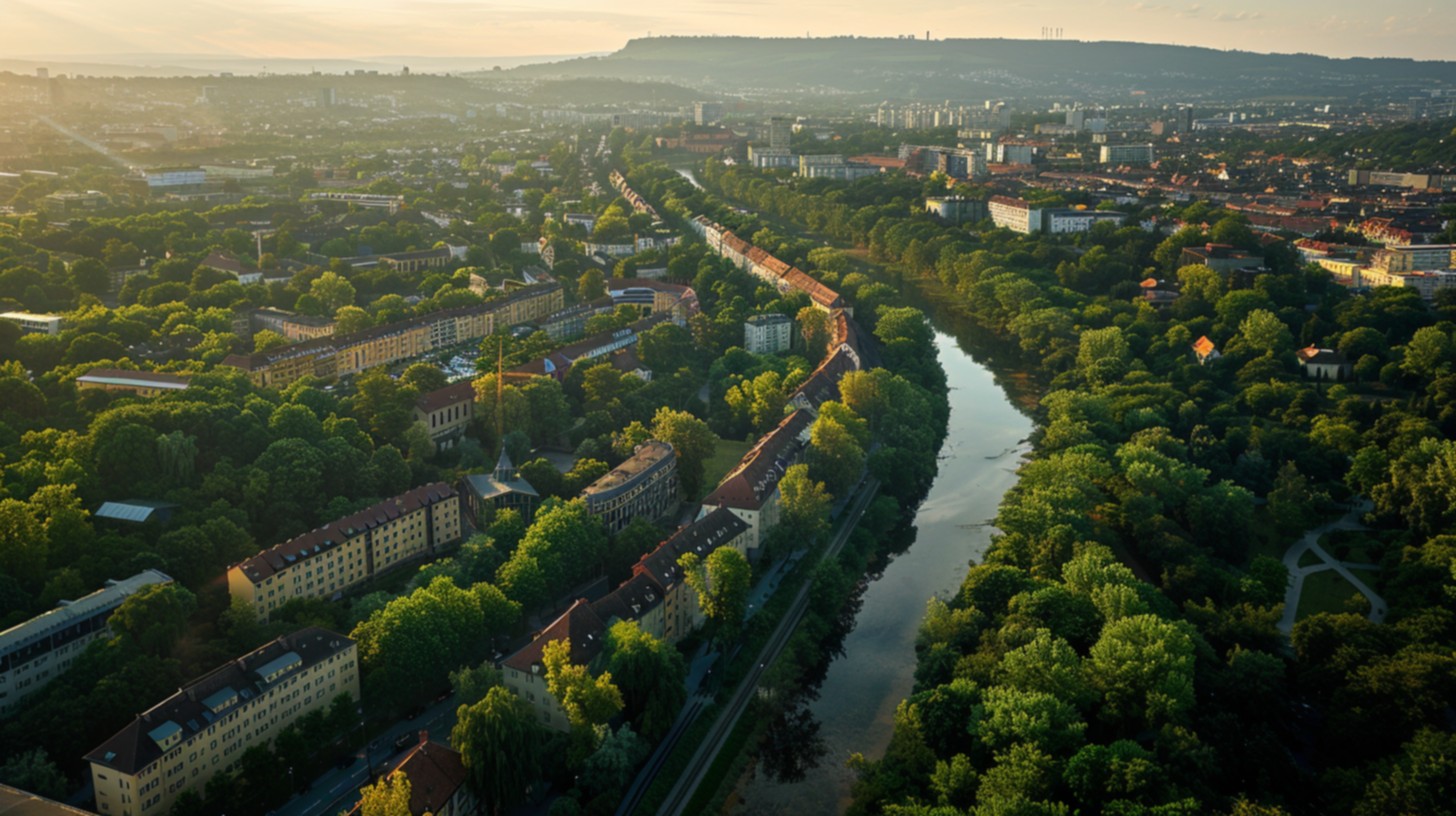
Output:
[[[865,513],[865,507],[869,506],[869,501],[875,497],[878,490],[879,482],[872,478],[866,478],[860,484],[860,490],[855,495],[853,503],[849,506],[849,513],[844,516],[844,523],[839,527],[839,532],[834,533],[834,538],[824,549],[821,561],[834,558],[839,555],[839,551],[844,548],[844,542],[847,542],[850,533],[855,532],[859,517]],[[693,794],[697,791],[697,785],[702,784],[703,775],[709,768],[712,768],[713,761],[718,758],[718,752],[722,750],[724,742],[738,724],[738,717],[743,715],[744,710],[748,707],[748,701],[757,694],[759,679],[767,670],[767,666],[779,657],[779,653],[783,651],[783,647],[794,635],[794,629],[798,628],[799,621],[804,618],[804,612],[808,609],[808,605],[810,581],[805,581],[804,586],[799,587],[798,595],[794,596],[794,603],[789,606],[788,613],[782,621],[779,621],[779,627],[773,631],[773,635],[769,637],[769,643],[764,644],[763,651],[759,653],[757,666],[753,666],[748,670],[748,676],[745,676],[738,685],[738,689],[728,701],[728,705],[724,707],[718,720],[703,737],[702,745],[697,746],[697,750],[693,753],[687,768],[683,769],[683,774],[677,778],[677,782],[667,796],[667,801],[664,801],[662,807],[658,809],[660,816],[680,816],[686,813],[687,803],[692,801]],[[689,702],[689,708],[692,707],[693,702]],[[674,731],[677,731],[676,727]],[[676,734],[670,734],[668,740],[664,740],[664,743],[670,740],[676,740]],[[665,758],[665,753],[662,756]],[[654,756],[654,762],[649,762],[648,768],[644,771],[645,780],[639,777],[633,785],[636,796],[629,793],[628,801],[623,803],[626,810],[619,809],[619,813],[630,812],[630,809],[636,806],[636,797],[639,797],[641,791],[645,791],[651,785],[652,777],[657,775],[658,769],[660,762],[658,758]]]

